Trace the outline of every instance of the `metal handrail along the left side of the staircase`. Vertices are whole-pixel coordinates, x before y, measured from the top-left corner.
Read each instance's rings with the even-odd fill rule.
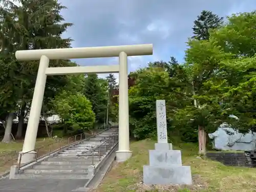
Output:
[[[108,129],[109,129],[109,128],[108,128]],[[28,164],[30,164],[30,163],[32,163],[32,162],[36,162],[38,158],[42,158],[42,157],[45,157],[45,156],[47,156],[47,155],[51,155],[52,153],[57,152],[57,151],[61,150],[61,149],[64,148],[64,147],[68,147],[68,146],[70,146],[70,145],[72,145],[72,144],[78,143],[79,141],[86,140],[86,139],[90,139],[91,137],[94,137],[94,136],[96,136],[96,135],[98,135],[98,134],[100,134],[100,133],[102,133],[102,132],[104,132],[104,131],[106,131],[106,130],[108,130],[108,129],[105,129],[105,130],[103,130],[103,131],[101,131],[101,132],[99,132],[99,133],[97,133],[97,134],[93,134],[92,136],[90,136],[90,137],[88,137],[88,138],[86,137],[86,134],[84,134],[84,133],[71,136],[71,137],[68,138],[68,144],[66,144],[66,145],[61,145],[62,142],[65,141],[65,140],[62,139],[62,140],[53,142],[53,143],[48,144],[48,145],[45,145],[45,146],[41,146],[41,147],[39,147],[39,148],[35,148],[34,150],[31,150],[31,151],[28,151],[28,152],[19,154],[18,169],[20,169],[20,167],[26,166],[26,165],[28,165]],[[85,136],[85,139],[82,139],[82,136],[83,136],[83,135]],[[77,137],[79,138],[79,140],[77,140]],[[75,141],[72,142],[72,143],[70,143],[71,138],[74,138],[74,139],[75,139]],[[59,143],[59,147],[58,147],[56,150],[51,151],[51,150],[52,150],[52,146],[53,146],[54,144],[56,144],[56,143]],[[45,148],[45,147],[48,147],[48,146],[49,146],[49,153],[38,157],[38,152],[39,152],[39,150],[40,150],[41,148]],[[30,162],[27,162],[27,163],[23,164],[22,166],[20,166],[20,165],[21,165],[21,161],[22,161],[22,156],[23,156],[24,154],[27,154],[27,153],[30,153],[30,152],[34,152],[34,151],[36,152],[35,159],[32,160],[32,161],[30,161]]]

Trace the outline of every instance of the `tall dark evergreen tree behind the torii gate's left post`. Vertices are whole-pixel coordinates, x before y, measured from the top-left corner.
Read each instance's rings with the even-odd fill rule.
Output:
[[[70,23],[65,23],[59,14],[60,10],[66,7],[56,0],[17,0],[19,6],[12,1],[3,0],[0,8],[0,38],[2,52],[7,52],[6,59],[13,61],[13,65],[6,69],[5,73],[14,74],[10,78],[18,87],[15,92],[17,104],[20,106],[18,113],[19,125],[16,134],[17,138],[22,136],[23,119],[25,111],[29,110],[34,84],[36,80],[38,62],[15,61],[15,51],[30,49],[51,49],[70,47],[71,39],[61,38]],[[9,61],[7,61],[9,63]],[[66,60],[51,60],[50,66],[69,66]],[[54,97],[56,90],[67,82],[67,78],[49,77],[45,92],[45,102]]]

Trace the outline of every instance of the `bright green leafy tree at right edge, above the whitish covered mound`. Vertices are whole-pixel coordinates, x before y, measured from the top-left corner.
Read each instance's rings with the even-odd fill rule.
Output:
[[[209,91],[220,96],[223,115],[242,133],[255,131],[255,28],[256,12],[228,17],[227,25],[211,34],[212,44],[232,55],[223,60],[214,79],[207,82]]]

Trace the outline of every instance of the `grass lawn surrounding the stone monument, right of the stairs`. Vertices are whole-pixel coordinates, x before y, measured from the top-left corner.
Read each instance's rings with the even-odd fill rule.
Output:
[[[124,163],[114,164],[95,192],[177,191],[177,192],[253,192],[256,191],[256,169],[225,166],[212,160],[197,157],[194,144],[183,143],[175,150],[182,151],[183,165],[191,166],[192,186],[145,186],[142,184],[142,166],[148,164],[148,150],[155,141],[131,143],[133,157]]]

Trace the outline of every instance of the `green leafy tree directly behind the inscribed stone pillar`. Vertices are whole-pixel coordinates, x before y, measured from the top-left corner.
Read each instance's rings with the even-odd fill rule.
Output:
[[[156,136],[156,100],[166,100],[168,131],[173,115],[188,104],[185,93],[177,86],[175,78],[170,78],[162,67],[140,69],[136,74],[136,84],[129,90],[130,123],[133,134],[143,139]]]

